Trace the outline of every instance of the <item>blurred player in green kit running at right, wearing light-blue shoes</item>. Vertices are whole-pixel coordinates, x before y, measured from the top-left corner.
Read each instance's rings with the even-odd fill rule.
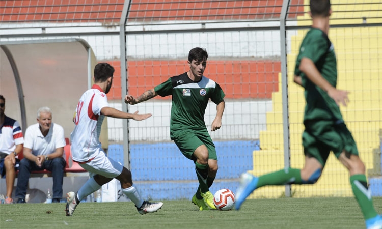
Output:
[[[339,105],[348,102],[348,92],[336,89],[337,61],[328,38],[330,0],[311,0],[312,28],[306,34],[296,60],[294,82],[305,89],[303,169],[285,168],[254,177],[244,173],[236,191],[235,208],[255,189],[265,185],[314,184],[321,176],[331,151],[349,170],[350,184],[365,218],[366,228],[382,228],[382,218],[374,207],[365,176],[365,165],[347,129]]]

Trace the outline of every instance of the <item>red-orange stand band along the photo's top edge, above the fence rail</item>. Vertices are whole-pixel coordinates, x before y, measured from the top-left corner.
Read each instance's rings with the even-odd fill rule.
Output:
[[[288,17],[303,12],[303,0],[292,0]],[[124,0],[1,0],[2,22],[118,23]],[[128,20],[252,20],[279,18],[283,0],[257,1],[131,1]],[[300,13],[301,14],[301,13]]]

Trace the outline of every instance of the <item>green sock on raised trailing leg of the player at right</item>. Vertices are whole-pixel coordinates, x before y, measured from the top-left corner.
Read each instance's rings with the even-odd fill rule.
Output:
[[[256,188],[265,185],[302,184],[300,169],[287,168],[259,177]]]

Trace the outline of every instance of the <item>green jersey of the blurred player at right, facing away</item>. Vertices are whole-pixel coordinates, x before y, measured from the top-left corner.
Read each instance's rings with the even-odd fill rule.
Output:
[[[317,87],[299,70],[302,58],[313,61],[318,71],[333,87],[337,84],[337,60],[334,46],[328,35],[317,28],[311,28],[300,46],[294,74],[301,76],[305,88],[304,122],[308,120],[342,120],[339,106],[328,93]]]

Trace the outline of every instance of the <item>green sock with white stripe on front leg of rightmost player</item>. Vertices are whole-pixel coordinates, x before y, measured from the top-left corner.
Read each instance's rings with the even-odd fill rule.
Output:
[[[370,219],[377,216],[373,206],[371,191],[367,187],[366,176],[363,174],[353,175],[350,177],[350,184],[364,218]]]

